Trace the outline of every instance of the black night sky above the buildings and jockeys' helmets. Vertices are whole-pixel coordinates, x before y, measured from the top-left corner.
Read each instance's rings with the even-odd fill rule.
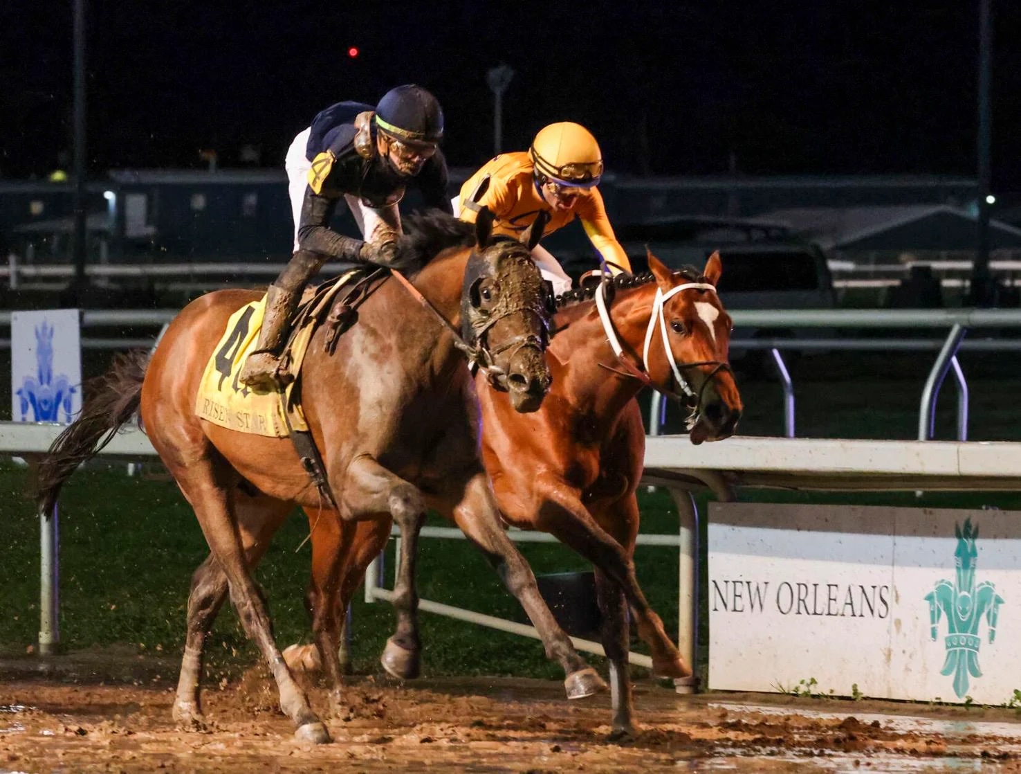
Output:
[[[975,170],[978,0],[87,2],[95,173],[201,147],[231,166],[246,143],[280,166],[322,107],[411,81],[444,105],[451,164],[478,165],[501,60],[506,149],[570,119],[619,172],[720,173],[731,151],[749,174]],[[1021,3],[993,2],[994,190],[1019,190]],[[70,0],[0,3],[0,174],[68,147],[70,41]]]

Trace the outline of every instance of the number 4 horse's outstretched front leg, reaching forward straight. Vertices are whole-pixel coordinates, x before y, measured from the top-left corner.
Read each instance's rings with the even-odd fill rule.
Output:
[[[542,639],[546,656],[564,668],[568,698],[583,698],[604,690],[606,684],[578,655],[539,594],[532,567],[507,537],[485,472],[478,472],[469,480],[463,499],[453,506],[453,519],[468,539],[482,550],[507,590],[521,602]]]

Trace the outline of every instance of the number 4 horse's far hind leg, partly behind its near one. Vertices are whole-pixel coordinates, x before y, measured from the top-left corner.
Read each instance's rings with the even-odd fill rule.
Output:
[[[236,497],[235,512],[238,515],[245,559],[250,568],[262,558],[270,540],[283,523],[290,508],[289,504],[278,500],[253,499],[242,495]],[[199,683],[202,679],[205,638],[227,593],[227,575],[212,554],[209,554],[192,575],[191,593],[188,595],[188,634],[173,710],[174,719],[185,728],[204,727]]]

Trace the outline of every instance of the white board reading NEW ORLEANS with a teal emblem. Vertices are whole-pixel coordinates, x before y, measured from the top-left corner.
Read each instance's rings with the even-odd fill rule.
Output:
[[[708,592],[714,689],[1021,688],[1021,512],[712,503]]]

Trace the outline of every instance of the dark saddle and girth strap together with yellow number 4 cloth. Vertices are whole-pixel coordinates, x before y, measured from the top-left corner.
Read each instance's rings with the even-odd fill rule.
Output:
[[[195,413],[213,424],[239,432],[270,438],[289,436],[302,465],[317,487],[332,500],[322,474],[322,460],[301,409],[301,364],[312,333],[320,325],[327,327],[325,348],[333,352],[338,336],[357,318],[358,305],[387,276],[389,272],[385,269],[351,269],[310,292],[298,307],[281,357],[294,379],[285,389],[272,393],[256,393],[238,381],[245,358],[258,342],[265,295],[241,307],[231,315],[224,335],[205,365],[195,397]]]

